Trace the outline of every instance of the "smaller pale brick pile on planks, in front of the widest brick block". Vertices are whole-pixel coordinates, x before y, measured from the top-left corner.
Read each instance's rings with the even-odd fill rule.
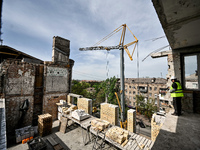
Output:
[[[94,129],[102,131],[102,130],[106,129],[110,125],[110,123],[105,120],[94,119],[91,121],[91,125]]]

